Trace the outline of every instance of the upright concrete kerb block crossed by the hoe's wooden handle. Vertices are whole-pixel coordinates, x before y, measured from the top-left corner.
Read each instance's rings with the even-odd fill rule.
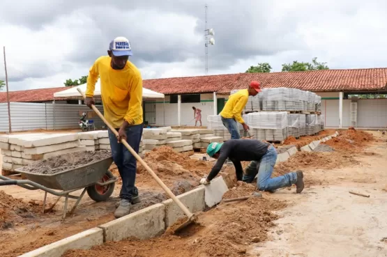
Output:
[[[206,208],[204,202],[204,187],[197,187],[189,192],[177,196],[179,200],[190,210],[190,212],[203,211]],[[177,220],[186,217],[172,199],[163,201],[165,204],[165,228],[172,226]]]

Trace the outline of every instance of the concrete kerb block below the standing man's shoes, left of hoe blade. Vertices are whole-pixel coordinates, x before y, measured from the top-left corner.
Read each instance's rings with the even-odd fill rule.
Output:
[[[157,203],[98,227],[104,230],[106,241],[120,241],[128,237],[145,240],[164,233],[164,218],[165,205]]]

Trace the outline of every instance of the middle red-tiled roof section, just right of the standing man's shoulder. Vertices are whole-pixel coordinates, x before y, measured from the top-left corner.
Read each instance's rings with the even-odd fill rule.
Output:
[[[150,90],[166,95],[184,93],[211,93],[227,86],[238,77],[240,73],[230,75],[212,75],[199,77],[174,77],[167,79],[144,79],[143,86]]]

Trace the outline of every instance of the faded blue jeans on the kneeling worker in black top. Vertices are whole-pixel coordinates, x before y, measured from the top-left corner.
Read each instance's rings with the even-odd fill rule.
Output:
[[[275,161],[277,160],[277,150],[269,146],[267,153],[261,161],[252,161],[245,170],[242,181],[251,183],[258,173],[257,187],[261,191],[274,191],[281,187],[290,187],[297,182],[297,173],[291,172],[284,176],[271,178]]]

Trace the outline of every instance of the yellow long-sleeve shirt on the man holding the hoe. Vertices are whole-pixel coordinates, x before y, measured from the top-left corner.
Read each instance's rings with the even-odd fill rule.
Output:
[[[101,84],[104,116],[113,127],[123,120],[130,125],[142,123],[142,77],[137,67],[128,61],[122,70],[114,70],[109,56],[101,56],[89,70],[86,97],[93,97],[98,77]]]

